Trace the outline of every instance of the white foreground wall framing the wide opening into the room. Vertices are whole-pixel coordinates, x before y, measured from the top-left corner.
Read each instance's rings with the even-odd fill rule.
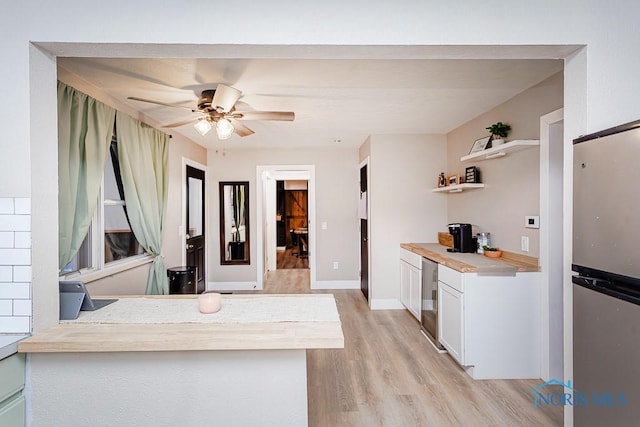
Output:
[[[0,51],[10,66],[0,68],[0,197],[32,198],[34,329],[57,321],[57,254],[50,250],[50,242],[57,239],[57,210],[55,183],[47,182],[55,179],[54,50],[97,56],[204,57],[223,52],[238,57],[255,45],[278,45],[263,54],[283,57],[285,52],[297,52],[299,56],[332,58],[351,56],[354,46],[361,47],[354,49],[358,55],[376,57],[379,53],[372,46],[391,46],[380,48],[389,58],[548,58],[557,55],[548,46],[584,45],[586,50],[570,54],[565,62],[565,143],[640,117],[640,60],[633,55],[640,47],[640,4],[633,0],[617,2],[615,7],[599,0],[541,0],[517,6],[505,0],[463,0],[455,6],[415,0],[326,1],[306,7],[293,0],[255,3],[251,7],[227,3],[224,12],[229,17],[241,16],[241,22],[217,19],[213,29],[211,17],[220,15],[219,7],[205,0],[162,5],[150,0],[32,0],[13,2],[3,9]],[[499,19],[499,30],[486,30],[496,22],[495,11],[504,8],[505,19]],[[483,30],[478,30],[479,23],[484,24]],[[238,31],[239,25],[242,31]],[[30,43],[38,43],[44,50]],[[166,43],[180,46],[166,49],[161,46]],[[211,46],[224,44],[234,46],[220,50]],[[504,45],[515,48],[501,47]],[[462,47],[451,48],[455,46]],[[565,170],[570,173],[568,144],[564,158]],[[571,230],[572,180],[566,179],[565,185],[566,234]],[[566,266],[571,259],[567,236],[565,243],[567,280]],[[565,302],[571,303],[568,280]],[[565,326],[570,326],[571,311],[565,310],[565,316]],[[567,337],[565,344],[569,345]]]

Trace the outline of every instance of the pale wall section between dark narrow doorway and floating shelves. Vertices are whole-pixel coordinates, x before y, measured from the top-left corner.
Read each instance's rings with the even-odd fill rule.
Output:
[[[431,192],[446,165],[446,137],[373,135],[369,149],[371,307],[399,308],[400,243],[434,243],[446,230],[446,198]]]

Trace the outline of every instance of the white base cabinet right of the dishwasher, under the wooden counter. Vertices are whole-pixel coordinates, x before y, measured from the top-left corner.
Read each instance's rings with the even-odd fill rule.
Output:
[[[475,379],[540,378],[540,273],[485,276],[438,265],[440,343]]]

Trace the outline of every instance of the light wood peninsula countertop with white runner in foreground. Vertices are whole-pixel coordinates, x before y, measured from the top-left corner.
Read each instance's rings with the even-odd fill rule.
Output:
[[[344,348],[333,295],[222,295],[221,305],[217,313],[202,314],[198,310],[197,295],[121,297],[99,310],[80,312],[77,320],[61,321],[36,333],[21,341],[18,351]],[[243,313],[247,314],[246,321]]]

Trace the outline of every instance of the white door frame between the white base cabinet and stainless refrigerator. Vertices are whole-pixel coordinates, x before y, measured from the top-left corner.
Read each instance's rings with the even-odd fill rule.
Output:
[[[563,251],[564,251],[564,231],[552,227],[564,227],[562,209],[553,213],[552,204],[560,203],[564,199],[564,182],[557,182],[551,179],[552,164],[559,164],[562,167],[562,180],[564,181],[564,136],[561,141],[552,140],[551,129],[555,125],[564,122],[564,109],[552,111],[540,117],[540,269],[541,269],[541,378],[548,381],[551,378],[564,381],[562,366],[551,366],[551,359],[559,357],[563,359],[564,346],[555,348],[558,341],[563,343],[564,327],[562,307],[563,292]],[[560,144],[558,147],[551,147],[551,144]],[[557,174],[556,174],[557,175]],[[560,192],[558,194],[558,192]],[[554,265],[555,264],[555,265]],[[560,269],[558,271],[558,268]],[[552,309],[552,301],[560,298],[560,307]],[[556,301],[557,304],[557,301]],[[558,354],[559,352],[559,354]]]

